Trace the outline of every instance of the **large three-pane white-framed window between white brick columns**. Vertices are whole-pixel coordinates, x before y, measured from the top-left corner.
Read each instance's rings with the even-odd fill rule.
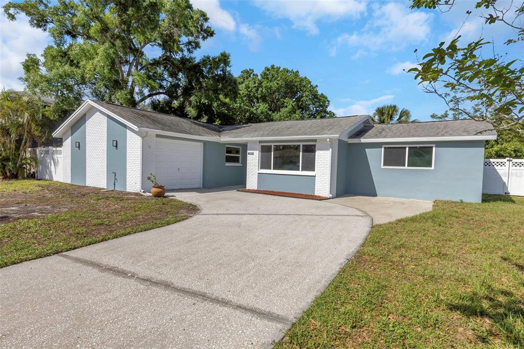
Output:
[[[315,171],[315,144],[263,144],[260,145],[261,171]]]

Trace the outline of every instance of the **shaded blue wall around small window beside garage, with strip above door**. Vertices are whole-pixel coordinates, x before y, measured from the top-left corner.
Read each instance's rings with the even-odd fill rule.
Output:
[[[219,188],[229,186],[243,186],[246,184],[246,157],[247,145],[225,144],[213,141],[202,141],[180,137],[157,135],[158,138],[178,139],[183,141],[195,141],[204,144],[204,159],[202,173],[202,187]],[[226,145],[242,148],[242,166],[226,166]]]

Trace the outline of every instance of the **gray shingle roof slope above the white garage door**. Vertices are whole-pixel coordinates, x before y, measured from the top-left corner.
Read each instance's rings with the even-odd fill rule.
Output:
[[[201,123],[185,117],[149,112],[122,105],[93,101],[102,108],[115,113],[138,128],[181,133],[184,135],[219,137],[220,126]]]

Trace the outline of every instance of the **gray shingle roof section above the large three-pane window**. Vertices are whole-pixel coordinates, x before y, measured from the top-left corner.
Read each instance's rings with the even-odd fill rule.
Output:
[[[221,139],[340,135],[367,115],[224,126]]]

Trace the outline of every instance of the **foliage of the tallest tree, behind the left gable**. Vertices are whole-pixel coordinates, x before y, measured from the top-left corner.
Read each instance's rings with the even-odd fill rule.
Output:
[[[132,107],[165,96],[191,116],[191,96],[205,101],[208,117],[218,103],[210,95],[224,80],[232,81],[227,54],[200,61],[192,56],[214,32],[208,16],[189,0],[25,0],[3,8],[8,19],[23,13],[32,27],[49,32],[52,45],[43,61],[28,54],[22,80],[30,91],[56,97],[56,113],[71,110],[86,95]]]

